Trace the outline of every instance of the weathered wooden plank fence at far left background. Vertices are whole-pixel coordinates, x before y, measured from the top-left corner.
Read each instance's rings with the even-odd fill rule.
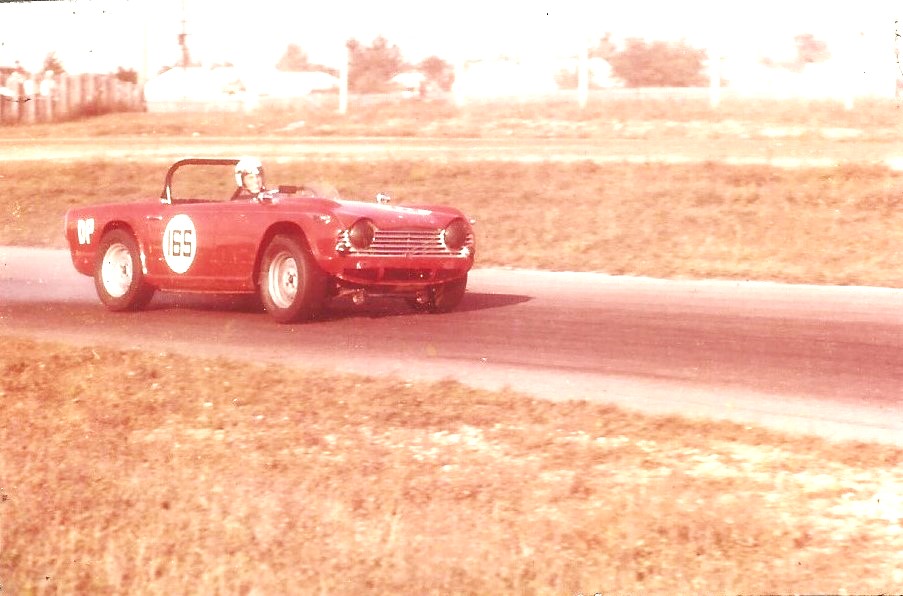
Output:
[[[114,75],[12,74],[2,83],[0,125],[60,122],[109,112],[144,110],[141,86]]]

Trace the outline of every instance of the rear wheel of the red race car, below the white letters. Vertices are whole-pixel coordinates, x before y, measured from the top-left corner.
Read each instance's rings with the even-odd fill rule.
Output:
[[[144,281],[138,242],[129,232],[112,230],[100,239],[94,287],[112,311],[141,310],[153,298],[154,288]]]

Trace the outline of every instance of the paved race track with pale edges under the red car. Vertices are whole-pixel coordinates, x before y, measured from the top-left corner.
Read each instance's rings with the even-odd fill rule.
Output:
[[[461,308],[337,300],[277,325],[228,297],[100,305],[66,251],[0,247],[0,332],[732,419],[903,445],[903,290],[482,269]]]

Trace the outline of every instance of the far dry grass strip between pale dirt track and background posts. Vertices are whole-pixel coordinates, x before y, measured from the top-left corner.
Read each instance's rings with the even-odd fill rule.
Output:
[[[486,102],[455,106],[447,101],[353,101],[348,114],[338,101],[251,113],[124,113],[64,122],[6,126],[12,138],[109,135],[401,136],[541,138],[761,138],[806,137],[896,141],[903,135],[900,103],[859,100],[846,110],[829,100],[725,99],[713,110],[704,98],[624,97],[593,94],[586,109],[571,99]]]

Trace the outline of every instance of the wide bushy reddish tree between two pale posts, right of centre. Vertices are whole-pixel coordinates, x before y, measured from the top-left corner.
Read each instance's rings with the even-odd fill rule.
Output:
[[[612,74],[627,87],[698,87],[706,84],[705,50],[685,42],[628,39],[608,58]]]

